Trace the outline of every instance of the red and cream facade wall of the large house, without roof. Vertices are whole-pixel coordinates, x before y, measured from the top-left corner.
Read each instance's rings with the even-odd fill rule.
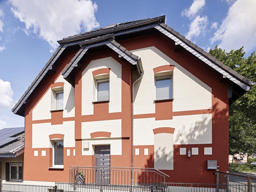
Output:
[[[214,182],[207,160],[228,170],[228,83],[159,32],[116,42],[140,57],[144,69],[134,84],[134,167],[161,170],[167,181]],[[106,48],[87,54],[72,87],[61,72],[77,51],[65,52],[26,104],[24,183],[68,182],[69,166],[94,166],[95,145],[110,145],[111,167],[131,167],[132,82],[139,73]],[[155,79],[166,74],[172,98],[156,100]],[[109,101],[95,102],[102,77],[109,78]],[[56,90],[63,90],[63,110],[53,110]],[[63,169],[53,166],[54,140],[64,143]]]

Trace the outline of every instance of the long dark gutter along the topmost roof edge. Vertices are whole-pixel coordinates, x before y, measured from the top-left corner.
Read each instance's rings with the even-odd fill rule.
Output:
[[[71,42],[71,41],[92,38],[94,36],[102,36],[104,34],[111,34],[111,33],[114,33],[116,31],[121,31],[121,30],[124,30],[124,29],[134,28],[134,27],[138,27],[138,26],[141,26],[141,25],[154,23],[154,22],[157,22],[157,21],[162,21],[164,23],[165,22],[165,15],[159,16],[159,17],[154,17],[154,18],[147,19],[147,20],[138,21],[136,23],[131,23],[131,24],[128,24],[128,25],[123,25],[123,26],[119,26],[119,27],[115,27],[115,28],[100,30],[100,31],[96,31],[96,32],[92,32],[92,33],[88,33],[88,34],[84,34],[84,35],[80,35],[80,36],[76,36],[76,37],[70,37],[68,39],[62,39],[62,40],[59,40],[57,42],[59,44],[62,44],[62,43],[68,43],[68,42]]]

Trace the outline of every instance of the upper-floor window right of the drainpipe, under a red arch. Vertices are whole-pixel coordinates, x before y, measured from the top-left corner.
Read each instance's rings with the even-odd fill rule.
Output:
[[[156,100],[172,99],[172,76],[156,77]]]

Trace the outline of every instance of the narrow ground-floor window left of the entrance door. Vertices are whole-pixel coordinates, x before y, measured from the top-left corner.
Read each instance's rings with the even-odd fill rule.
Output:
[[[53,141],[53,167],[63,167],[64,145],[63,140]]]

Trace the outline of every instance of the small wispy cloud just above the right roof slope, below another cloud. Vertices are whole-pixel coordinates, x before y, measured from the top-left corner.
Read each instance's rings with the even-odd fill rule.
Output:
[[[207,16],[200,17],[198,15],[193,21],[191,21],[189,25],[189,31],[186,34],[186,38],[190,39],[191,41],[195,41],[195,38],[199,35],[204,36],[207,23]]]

